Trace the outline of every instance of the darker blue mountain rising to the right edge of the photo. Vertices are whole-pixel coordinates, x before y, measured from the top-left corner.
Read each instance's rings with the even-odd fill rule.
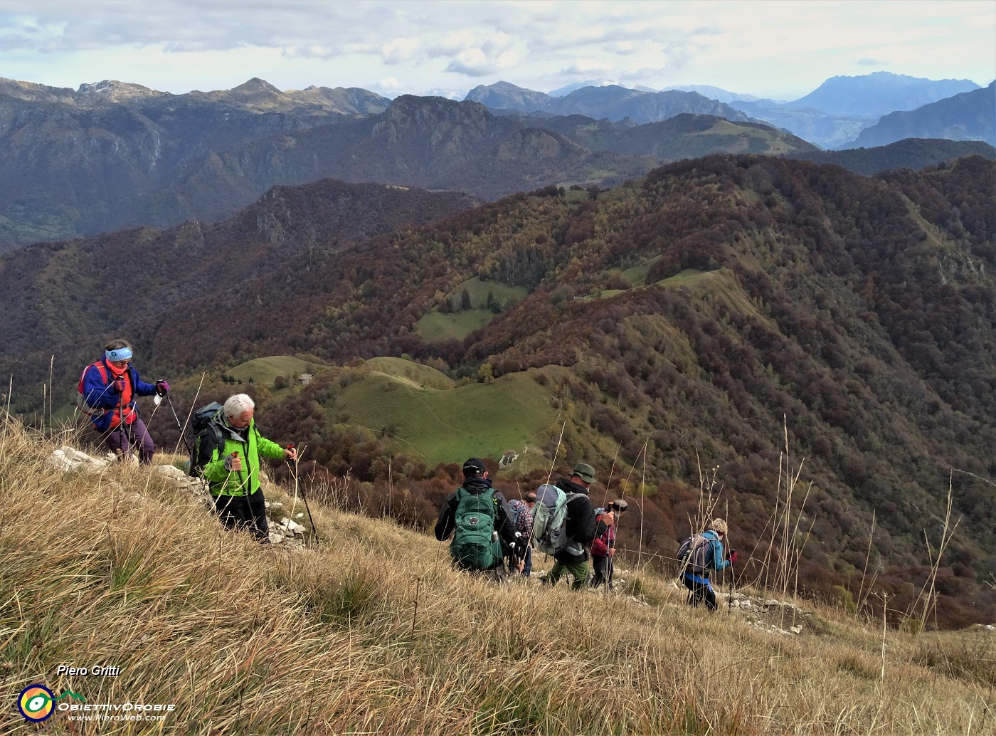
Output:
[[[912,137],[984,140],[996,145],[996,83],[913,111],[890,113],[842,147],[884,145]]]

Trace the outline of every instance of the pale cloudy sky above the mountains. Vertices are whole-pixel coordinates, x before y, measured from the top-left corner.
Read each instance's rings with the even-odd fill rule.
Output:
[[[182,94],[254,77],[462,100],[590,80],[795,100],[836,76],[996,77],[996,0],[0,0],[0,77]]]

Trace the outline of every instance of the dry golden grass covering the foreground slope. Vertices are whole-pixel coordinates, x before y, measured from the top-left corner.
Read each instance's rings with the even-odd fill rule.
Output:
[[[883,648],[873,622],[810,607],[802,634],[778,635],[692,611],[649,572],[625,576],[641,603],[497,586],[429,537],[314,502],[321,545],[265,549],[158,474],[64,475],[53,447],[0,434],[0,699],[40,682],[176,709],[99,726],[57,712],[49,733],[996,732],[991,632],[889,630]],[[36,727],[5,708],[0,732],[18,730]]]

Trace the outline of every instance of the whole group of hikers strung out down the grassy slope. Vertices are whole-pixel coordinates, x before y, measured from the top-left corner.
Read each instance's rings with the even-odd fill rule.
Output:
[[[155,445],[135,399],[155,395],[157,400],[168,400],[169,383],[161,378],[154,383],[142,381],[131,365],[132,358],[126,341],[108,343],[104,357],[84,368],[80,376],[79,406],[90,416],[98,443],[120,458],[136,452],[139,463],[150,464]],[[261,544],[269,544],[259,458],[294,462],[297,450],[292,444],[282,447],[263,437],[256,429],[254,412],[255,403],[245,393],[199,409],[194,414],[193,445],[188,445],[190,472],[207,481],[218,518],[226,527],[247,530]],[[544,585],[556,586],[570,575],[574,590],[613,587],[616,536],[627,504],[618,499],[605,508],[595,507],[590,497],[597,483],[592,465],[579,462],[569,476],[511,501],[494,488],[488,476],[483,460],[468,458],[463,463],[462,484],[439,509],[435,537],[440,542],[452,537],[450,557],[455,567],[495,578],[506,571],[529,578],[536,549],[554,560]],[[709,576],[737,559],[736,551],[723,554],[726,533],[726,522],[715,519],[678,549],[681,579],[691,606],[704,601],[709,611],[717,608]]]

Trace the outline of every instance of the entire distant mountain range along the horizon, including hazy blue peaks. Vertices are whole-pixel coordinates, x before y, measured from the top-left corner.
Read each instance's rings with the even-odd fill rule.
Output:
[[[870,77],[879,92],[895,77],[916,99],[965,84]],[[870,87],[865,78],[835,78],[809,103],[853,110],[839,101],[851,84]],[[896,127],[912,119],[886,117],[883,127],[895,129],[882,139],[913,128],[907,134],[991,138],[992,105],[987,118],[984,94],[948,98],[952,109],[943,115],[947,103],[933,103],[918,126]],[[606,84],[555,98],[497,83],[468,96],[480,104],[411,96],[392,102],[359,89],[281,92],[259,79],[187,95],[114,81],[74,91],[0,79],[0,251],[129,226],[218,219],[274,184],[328,176],[494,199],[551,184],[613,186],[660,163],[716,152],[807,157],[817,152],[808,140],[844,138],[844,144],[868,123],[800,109],[800,101],[725,96],[729,105],[697,92]],[[751,122],[733,106],[774,117],[783,129]],[[854,170],[876,171],[933,162],[950,150],[921,147],[910,156],[897,149],[847,160]]]

